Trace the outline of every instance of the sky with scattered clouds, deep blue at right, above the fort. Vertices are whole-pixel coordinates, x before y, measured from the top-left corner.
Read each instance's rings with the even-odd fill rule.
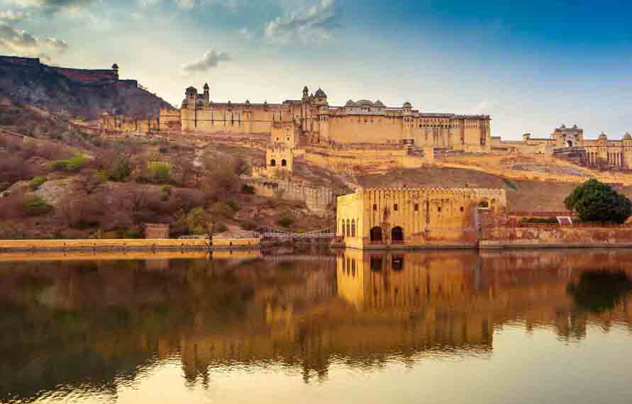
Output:
[[[0,0],[0,54],[103,69],[179,105],[321,87],[484,113],[492,135],[632,133],[632,1]]]

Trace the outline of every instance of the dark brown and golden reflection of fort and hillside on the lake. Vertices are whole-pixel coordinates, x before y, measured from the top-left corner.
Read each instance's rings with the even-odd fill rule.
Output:
[[[582,340],[632,330],[631,278],[628,250],[0,262],[0,401],[113,392],[174,357],[191,384],[235,364],[311,382],[332,364],[487,357],[506,325]]]

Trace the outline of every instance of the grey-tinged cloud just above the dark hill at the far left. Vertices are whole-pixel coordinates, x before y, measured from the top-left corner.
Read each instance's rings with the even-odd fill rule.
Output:
[[[51,36],[40,40],[25,30],[13,28],[7,23],[0,23],[0,52],[50,60],[50,52],[60,55],[68,48],[65,40]]]

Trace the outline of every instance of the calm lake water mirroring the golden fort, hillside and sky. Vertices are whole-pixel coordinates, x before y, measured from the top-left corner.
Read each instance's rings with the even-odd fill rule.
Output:
[[[0,255],[0,402],[632,402],[632,250],[148,256]]]

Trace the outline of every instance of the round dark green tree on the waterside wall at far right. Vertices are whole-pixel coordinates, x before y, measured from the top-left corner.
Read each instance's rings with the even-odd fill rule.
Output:
[[[632,215],[631,201],[596,179],[577,186],[564,204],[570,211],[576,211],[584,222],[624,223]]]

